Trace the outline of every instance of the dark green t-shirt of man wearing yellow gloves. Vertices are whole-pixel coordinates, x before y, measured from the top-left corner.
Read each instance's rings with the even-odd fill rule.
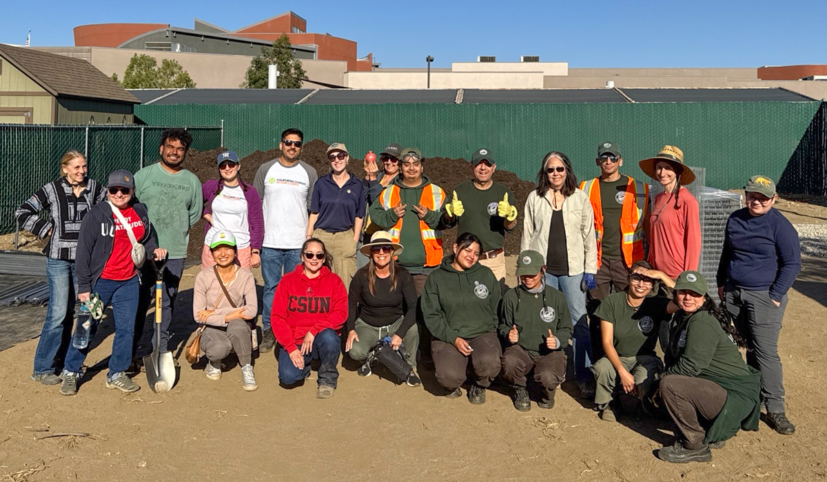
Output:
[[[470,232],[476,235],[482,241],[482,252],[503,247],[505,231],[511,230],[505,229],[505,218],[497,215],[497,203],[508,193],[509,204],[514,206],[517,203],[514,193],[498,182],[491,184],[488,189],[477,189],[471,180],[459,184],[454,191],[465,209],[462,216],[450,222],[451,226],[457,225],[457,234]],[[445,194],[450,202],[453,193]]]

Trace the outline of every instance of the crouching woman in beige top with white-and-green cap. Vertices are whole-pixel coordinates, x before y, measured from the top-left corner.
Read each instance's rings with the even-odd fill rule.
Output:
[[[249,270],[235,264],[237,246],[232,232],[215,231],[208,242],[215,265],[196,274],[193,289],[193,317],[205,325],[201,350],[209,361],[204,373],[208,379],[220,379],[222,360],[235,351],[241,365],[241,383],[251,392],[258,389],[248,322],[258,311],[256,280]]]

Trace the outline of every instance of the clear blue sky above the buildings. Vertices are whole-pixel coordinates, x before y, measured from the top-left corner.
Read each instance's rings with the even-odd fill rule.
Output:
[[[308,31],[358,42],[383,67],[434,67],[496,55],[540,55],[578,67],[759,67],[827,64],[827,2],[3,2],[0,42],[74,45],[74,26],[194,17],[236,29],[293,10]],[[36,4],[37,12],[31,7]],[[164,8],[169,6],[170,8]]]

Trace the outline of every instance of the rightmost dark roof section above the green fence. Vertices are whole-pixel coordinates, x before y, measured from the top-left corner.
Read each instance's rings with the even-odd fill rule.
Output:
[[[638,103],[812,102],[786,88],[619,88]]]

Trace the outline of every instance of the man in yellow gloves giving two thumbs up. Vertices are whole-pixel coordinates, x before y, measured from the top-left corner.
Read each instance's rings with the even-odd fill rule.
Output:
[[[471,232],[482,241],[480,265],[488,266],[501,287],[505,285],[505,231],[517,225],[516,198],[503,184],[491,179],[497,163],[488,149],[471,155],[474,178],[459,184],[445,205],[442,221],[457,226],[457,234]]]

